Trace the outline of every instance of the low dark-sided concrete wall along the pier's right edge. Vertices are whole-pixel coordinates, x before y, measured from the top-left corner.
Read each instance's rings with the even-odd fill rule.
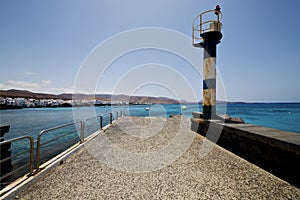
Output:
[[[299,133],[247,124],[229,116],[202,120],[201,115],[193,112],[193,131],[300,188]]]

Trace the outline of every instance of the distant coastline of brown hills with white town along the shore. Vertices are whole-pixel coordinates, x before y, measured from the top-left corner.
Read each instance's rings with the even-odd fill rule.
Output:
[[[112,94],[44,94],[25,90],[0,90],[0,109],[80,107],[140,104],[178,104],[166,97],[129,96]]]

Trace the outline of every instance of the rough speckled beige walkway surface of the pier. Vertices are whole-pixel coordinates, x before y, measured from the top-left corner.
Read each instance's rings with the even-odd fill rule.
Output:
[[[125,117],[19,199],[300,199],[300,189],[209,142],[183,116]]]

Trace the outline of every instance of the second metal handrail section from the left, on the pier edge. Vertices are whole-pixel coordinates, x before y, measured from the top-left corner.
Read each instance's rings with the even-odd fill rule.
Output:
[[[36,147],[36,169],[38,170],[39,167],[40,167],[40,158],[41,158],[41,146],[43,144],[46,144],[46,143],[43,143],[41,144],[41,137],[50,132],[50,131],[54,131],[54,130],[57,130],[57,129],[61,129],[61,128],[64,128],[64,127],[67,127],[67,126],[72,126],[72,125],[76,125],[76,124],[80,124],[80,142],[84,142],[84,122],[83,121],[79,121],[79,122],[73,122],[73,123],[68,123],[68,124],[63,124],[61,126],[56,126],[56,127],[53,127],[53,128],[49,128],[49,129],[46,129],[46,130],[42,130],[39,134],[38,134],[38,137],[37,137],[37,147]],[[68,134],[70,134],[70,132],[68,132]],[[67,134],[67,135],[68,135]],[[66,134],[64,134],[65,136]],[[60,138],[60,136],[56,137],[55,139],[53,139],[52,141],[54,140],[57,140],[58,138]]]

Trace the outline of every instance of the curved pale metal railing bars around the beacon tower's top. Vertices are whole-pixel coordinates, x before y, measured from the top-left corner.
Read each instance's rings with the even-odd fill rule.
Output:
[[[203,15],[205,15],[207,13],[211,13],[211,12],[218,13],[216,15],[217,19],[216,20],[207,20],[207,21],[203,22]],[[199,24],[195,24],[197,20],[199,20]],[[192,44],[196,44],[197,43],[196,40],[200,40],[200,41],[203,40],[201,37],[196,37],[195,32],[199,33],[199,35],[200,35],[200,34],[207,32],[208,30],[210,30],[210,28],[203,28],[203,25],[208,24],[208,23],[214,23],[214,22],[222,25],[221,20],[222,20],[222,13],[221,13],[221,11],[217,11],[217,10],[208,10],[208,11],[205,11],[205,12],[197,15],[197,17],[195,17],[195,19],[193,20],[193,23],[192,23]]]

